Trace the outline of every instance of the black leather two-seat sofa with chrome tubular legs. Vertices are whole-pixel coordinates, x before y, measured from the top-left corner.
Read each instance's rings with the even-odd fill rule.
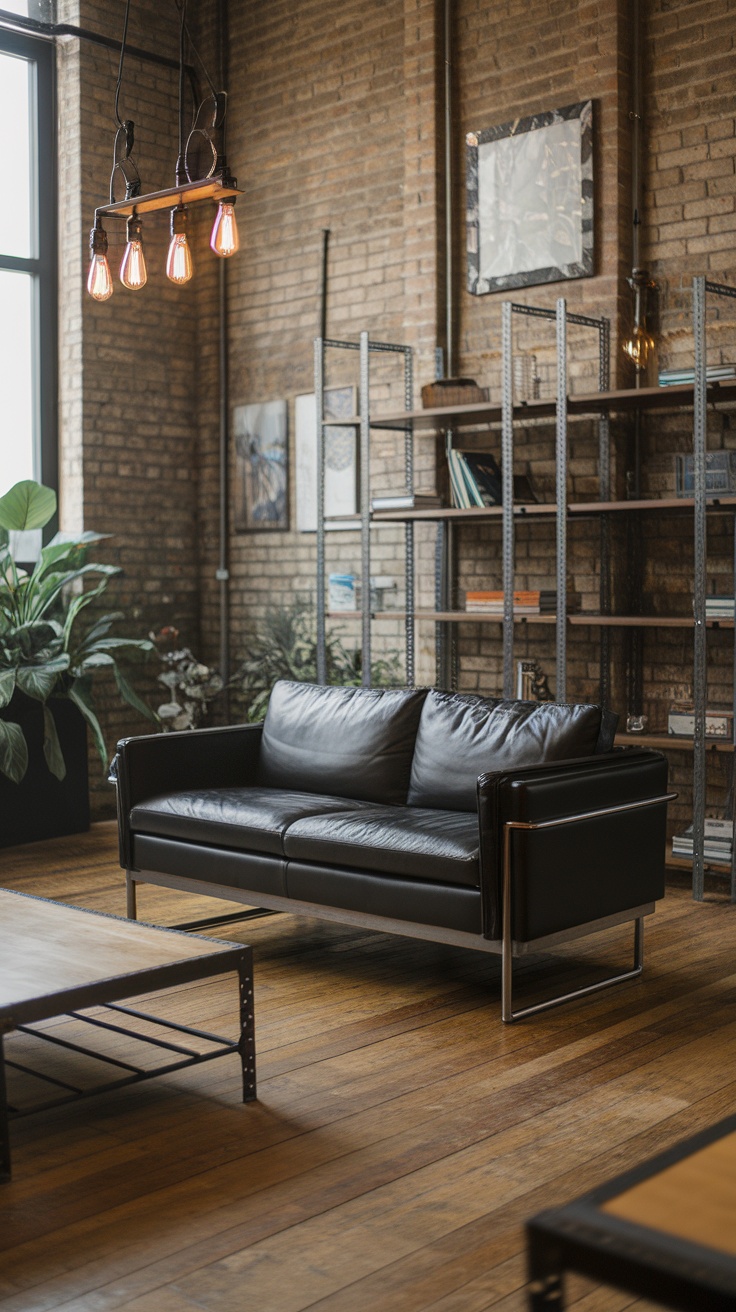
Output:
[[[666,762],[597,706],[276,685],[264,724],[125,739],[129,916],[164,884],[514,956],[664,893]],[[583,991],[588,992],[588,991]],[[576,994],[577,996],[577,994]]]

